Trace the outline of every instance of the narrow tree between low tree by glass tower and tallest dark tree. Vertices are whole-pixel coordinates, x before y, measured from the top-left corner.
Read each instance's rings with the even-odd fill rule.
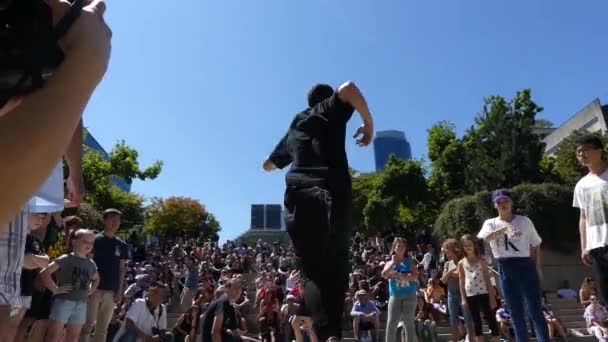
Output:
[[[443,203],[465,190],[465,149],[462,141],[456,138],[454,124],[448,121],[434,124],[428,134],[429,188],[436,200]]]

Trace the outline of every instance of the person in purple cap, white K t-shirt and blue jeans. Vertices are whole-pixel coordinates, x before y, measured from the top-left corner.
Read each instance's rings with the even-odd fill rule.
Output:
[[[513,320],[517,341],[528,341],[526,309],[538,341],[550,341],[540,301],[540,236],[532,221],[513,214],[513,200],[506,189],[492,194],[498,216],[486,220],[477,235],[490,244],[500,273],[500,287]]]

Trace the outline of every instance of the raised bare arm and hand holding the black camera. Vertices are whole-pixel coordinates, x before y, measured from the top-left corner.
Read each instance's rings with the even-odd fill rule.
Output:
[[[0,109],[0,222],[11,220],[57,165],[107,70],[110,34],[103,5],[85,7],[64,36],[65,59],[53,77],[19,105]],[[7,229],[0,225],[0,232]]]

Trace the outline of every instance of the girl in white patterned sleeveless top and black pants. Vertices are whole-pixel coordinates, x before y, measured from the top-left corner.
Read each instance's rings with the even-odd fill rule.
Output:
[[[479,257],[477,239],[466,234],[460,239],[465,257],[458,263],[460,293],[464,294],[462,306],[468,308],[473,319],[475,341],[483,341],[481,313],[483,312],[492,333],[492,341],[498,341],[498,324],[493,314],[496,293],[490,282],[488,263]]]

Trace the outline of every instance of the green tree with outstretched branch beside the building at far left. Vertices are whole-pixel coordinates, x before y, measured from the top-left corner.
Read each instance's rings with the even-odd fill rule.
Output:
[[[120,190],[113,180],[124,179],[131,184],[137,177],[141,180],[154,179],[162,169],[157,161],[145,170],[139,169],[138,153],[124,141],[117,143],[106,159],[97,150],[84,148],[82,159],[83,178],[86,189],[85,201],[99,211],[117,208],[122,211],[122,226],[131,228],[144,221],[144,198],[136,193]]]

